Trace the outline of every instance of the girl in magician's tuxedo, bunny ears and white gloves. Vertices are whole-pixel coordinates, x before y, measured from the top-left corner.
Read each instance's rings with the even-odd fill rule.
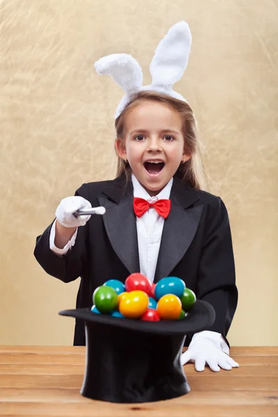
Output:
[[[108,279],[124,281],[133,272],[152,282],[180,277],[199,300],[215,309],[213,326],[186,338],[189,347],[182,363],[194,361],[199,371],[206,364],[214,371],[230,370],[238,366],[229,357],[226,338],[238,292],[229,219],[220,197],[202,190],[206,181],[195,116],[172,90],[187,65],[188,56],[182,58],[188,31],[185,22],[170,29],[152,61],[152,85],[145,88],[132,57],[120,54],[99,60],[98,72],[112,74],[126,90],[115,120],[117,178],[85,183],[74,197],[63,199],[56,220],[37,239],[35,257],[61,281],[81,277],[76,308],[92,306],[93,291]],[[169,48],[171,72],[165,75]],[[174,74],[179,65],[183,71],[178,68]],[[104,206],[106,213],[74,215],[92,206]],[[85,345],[78,319],[74,345]]]

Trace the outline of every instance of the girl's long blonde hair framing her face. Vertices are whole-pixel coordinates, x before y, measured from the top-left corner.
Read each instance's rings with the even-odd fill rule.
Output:
[[[174,99],[168,95],[153,91],[141,91],[133,96],[131,102],[124,108],[124,111],[115,120],[115,129],[117,139],[124,140],[124,122],[126,115],[132,108],[138,106],[143,101],[156,101],[164,104],[177,111],[183,120],[182,132],[185,150],[191,155],[191,158],[186,163],[181,163],[174,177],[179,177],[184,182],[196,189],[205,190],[208,186],[208,176],[202,161],[202,144],[197,136],[197,121],[192,108],[185,101]],[[117,156],[117,177],[126,176],[126,179],[131,176],[131,167],[129,163],[123,161],[120,156]]]

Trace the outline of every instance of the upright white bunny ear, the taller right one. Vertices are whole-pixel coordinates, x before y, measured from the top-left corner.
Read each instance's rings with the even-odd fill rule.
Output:
[[[191,33],[184,21],[172,26],[163,40],[158,44],[149,71],[152,74],[152,85],[171,90],[188,65],[191,47]]]

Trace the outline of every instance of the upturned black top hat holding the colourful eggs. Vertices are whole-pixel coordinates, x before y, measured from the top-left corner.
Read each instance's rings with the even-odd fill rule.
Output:
[[[146,322],[64,310],[61,316],[84,320],[86,365],[81,394],[110,402],[150,402],[179,397],[190,391],[181,366],[186,334],[208,329],[215,311],[195,302],[186,318]]]

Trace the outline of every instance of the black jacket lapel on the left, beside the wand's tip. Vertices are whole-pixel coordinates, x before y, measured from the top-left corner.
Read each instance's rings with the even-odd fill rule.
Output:
[[[103,216],[106,233],[119,259],[127,270],[140,272],[136,216],[133,212],[133,188],[122,179],[111,182],[98,196],[106,208]]]

